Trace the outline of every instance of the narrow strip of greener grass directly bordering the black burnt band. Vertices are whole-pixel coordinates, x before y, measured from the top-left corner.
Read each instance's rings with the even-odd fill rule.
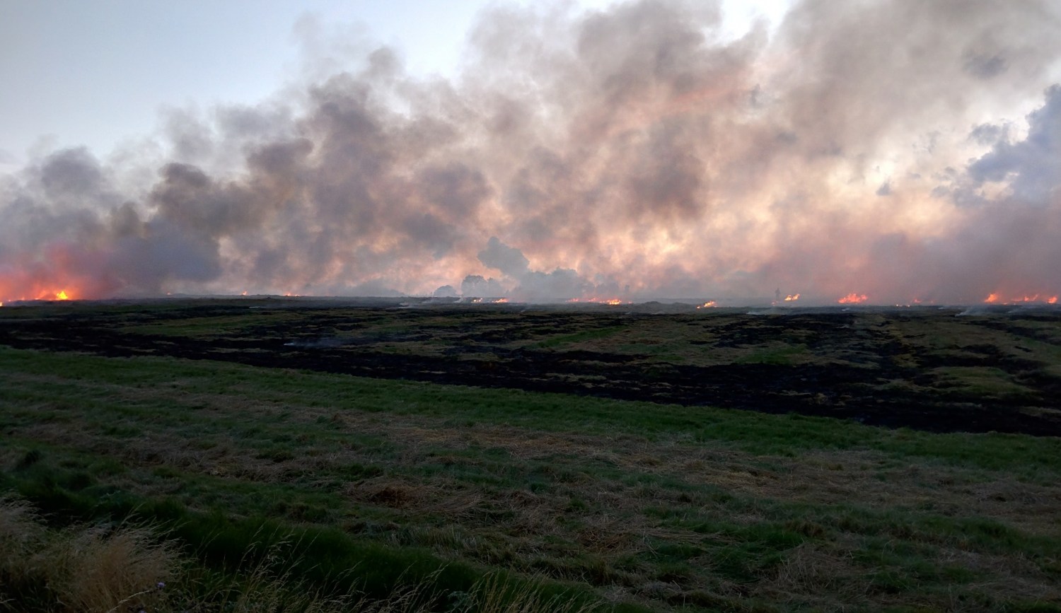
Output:
[[[17,381],[7,381],[18,373],[48,376],[50,381],[24,389]],[[66,398],[64,402],[76,402],[76,393],[84,385],[149,390],[169,387],[177,392],[230,396],[239,398],[241,403],[387,411],[592,435],[689,436],[764,455],[797,456],[816,449],[866,449],[988,470],[1013,470],[1022,478],[1037,480],[1061,473],[1061,439],[1053,437],[932,434],[797,414],[777,416],[481,389],[170,357],[108,358],[0,347],[0,381],[5,389],[0,396],[0,406],[10,407],[53,401],[56,397]],[[32,391],[34,387],[39,395]],[[13,393],[19,396],[13,398]],[[169,404],[173,400],[167,393],[155,402]]]

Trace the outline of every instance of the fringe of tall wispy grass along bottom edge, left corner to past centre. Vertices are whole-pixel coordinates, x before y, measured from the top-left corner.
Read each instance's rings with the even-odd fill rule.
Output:
[[[530,582],[488,574],[467,592],[438,586],[441,570],[385,598],[330,594],[294,577],[279,539],[244,553],[238,573],[196,564],[145,526],[49,528],[33,507],[0,496],[0,611],[46,613],[592,613],[599,607],[546,596]],[[398,583],[402,583],[400,580]]]

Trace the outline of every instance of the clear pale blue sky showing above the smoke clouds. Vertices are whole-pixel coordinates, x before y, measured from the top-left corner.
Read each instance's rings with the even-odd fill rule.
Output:
[[[526,3],[524,3],[526,4]],[[582,0],[584,8],[607,0]],[[413,74],[454,76],[483,0],[0,0],[0,172],[35,154],[105,155],[153,136],[168,110],[254,104],[316,55],[384,43]],[[734,34],[785,0],[730,1]],[[343,49],[347,47],[347,49]]]

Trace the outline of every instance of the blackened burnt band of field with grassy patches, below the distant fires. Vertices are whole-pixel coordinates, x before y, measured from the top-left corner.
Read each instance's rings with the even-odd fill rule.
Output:
[[[0,344],[1061,436],[1056,312],[649,315],[248,302],[5,309]]]

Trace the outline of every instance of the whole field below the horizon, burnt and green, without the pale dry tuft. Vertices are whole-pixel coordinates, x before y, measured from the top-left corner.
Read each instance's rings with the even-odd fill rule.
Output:
[[[1057,312],[407,306],[0,309],[0,608],[67,610],[25,509],[152,611],[1061,603]]]

